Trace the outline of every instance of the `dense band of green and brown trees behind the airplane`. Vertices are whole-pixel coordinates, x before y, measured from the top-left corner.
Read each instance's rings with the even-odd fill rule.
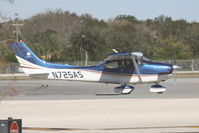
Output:
[[[164,15],[147,20],[118,15],[104,21],[89,14],[78,16],[60,9],[49,10],[25,20],[2,21],[0,41],[15,39],[11,24],[16,22],[24,24],[20,38],[36,54],[55,62],[80,61],[87,57],[89,61],[103,60],[112,49],[140,51],[154,59],[199,57],[199,23],[172,20]],[[3,48],[0,48],[0,58],[14,61],[11,51]]]

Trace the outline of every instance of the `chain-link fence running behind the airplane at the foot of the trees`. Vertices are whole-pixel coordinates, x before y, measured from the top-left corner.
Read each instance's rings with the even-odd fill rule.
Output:
[[[159,62],[170,63],[182,67],[179,71],[199,71],[199,60],[160,60]],[[60,63],[60,62],[59,62]],[[83,62],[61,62],[62,64],[84,66]],[[99,64],[100,61],[88,62],[88,66]],[[0,64],[0,74],[21,73],[18,63]]]

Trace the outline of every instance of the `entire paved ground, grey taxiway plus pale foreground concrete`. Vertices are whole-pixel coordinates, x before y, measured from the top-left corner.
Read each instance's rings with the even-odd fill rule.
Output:
[[[23,119],[23,133],[199,132],[199,78],[168,80],[163,94],[136,85],[115,95],[115,84],[1,80],[0,119]]]

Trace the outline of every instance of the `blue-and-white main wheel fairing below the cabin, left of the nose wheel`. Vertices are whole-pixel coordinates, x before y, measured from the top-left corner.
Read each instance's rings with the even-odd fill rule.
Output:
[[[114,92],[118,94],[130,94],[135,88],[130,85],[121,85],[114,88]]]

